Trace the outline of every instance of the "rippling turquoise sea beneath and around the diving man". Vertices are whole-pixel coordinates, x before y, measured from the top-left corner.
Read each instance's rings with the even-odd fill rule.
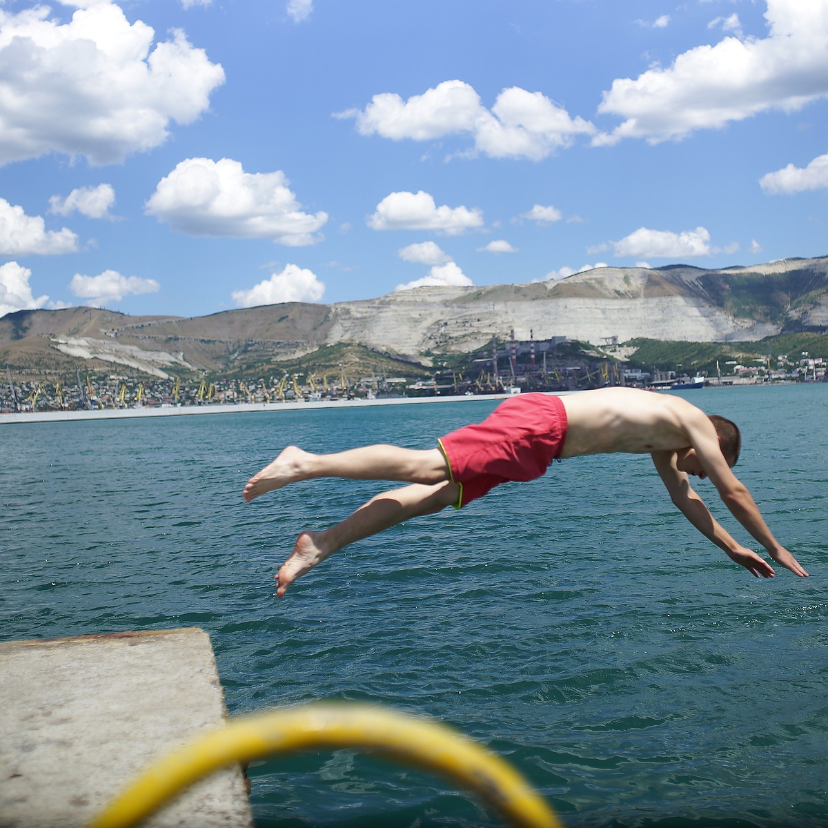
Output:
[[[344,699],[435,717],[567,826],[828,826],[828,384],[685,395],[742,426],[737,474],[811,578],[753,579],[674,512],[647,457],[619,455],[395,527],[280,601],[296,534],[387,486],[246,504],[253,472],[288,443],[431,447],[494,403],[7,425],[0,639],[199,626],[232,714]],[[500,824],[351,751],[250,775],[260,828]]]

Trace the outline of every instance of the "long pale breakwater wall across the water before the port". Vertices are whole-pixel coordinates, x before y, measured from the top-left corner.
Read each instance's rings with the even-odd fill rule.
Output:
[[[569,392],[557,392],[569,393]],[[0,414],[0,426],[9,423],[68,422],[76,420],[121,420],[145,416],[192,414],[245,414],[252,412],[296,412],[319,409],[364,408],[370,406],[417,405],[426,402],[484,402],[504,400],[511,394],[474,394],[449,397],[378,397],[373,400],[320,400],[314,402],[238,402],[204,406],[153,406],[138,408],[94,408],[66,412],[17,412]]]

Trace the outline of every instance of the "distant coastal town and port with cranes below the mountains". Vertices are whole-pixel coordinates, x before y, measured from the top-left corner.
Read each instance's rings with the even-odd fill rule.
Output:
[[[533,345],[534,343],[532,343]],[[542,352],[546,356],[546,352]],[[547,363],[534,349],[513,343],[495,349],[490,359],[476,359],[470,370],[436,372],[430,378],[388,377],[377,373],[350,378],[338,373],[283,373],[281,377],[227,378],[204,376],[198,381],[153,378],[127,373],[76,372],[74,383],[16,382],[7,367],[0,386],[0,414],[95,409],[236,406],[241,403],[324,402],[390,397],[452,397],[532,391],[577,391],[608,385],[653,390],[720,388],[772,383],[828,381],[826,359],[807,352],[748,363],[717,363],[714,375],[629,368],[616,360],[580,360],[575,365]],[[480,363],[484,363],[481,367]]]

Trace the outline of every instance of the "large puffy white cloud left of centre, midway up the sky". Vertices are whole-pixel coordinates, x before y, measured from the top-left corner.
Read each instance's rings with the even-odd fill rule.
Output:
[[[315,244],[328,214],[301,212],[285,174],[248,173],[238,161],[187,158],[158,182],[147,213],[191,236],[272,238],[289,247]]]

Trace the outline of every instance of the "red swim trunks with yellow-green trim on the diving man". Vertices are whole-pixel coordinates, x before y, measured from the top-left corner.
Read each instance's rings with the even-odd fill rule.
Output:
[[[521,394],[502,402],[483,422],[441,437],[461,508],[509,480],[533,480],[561,454],[566,409],[561,397]]]

